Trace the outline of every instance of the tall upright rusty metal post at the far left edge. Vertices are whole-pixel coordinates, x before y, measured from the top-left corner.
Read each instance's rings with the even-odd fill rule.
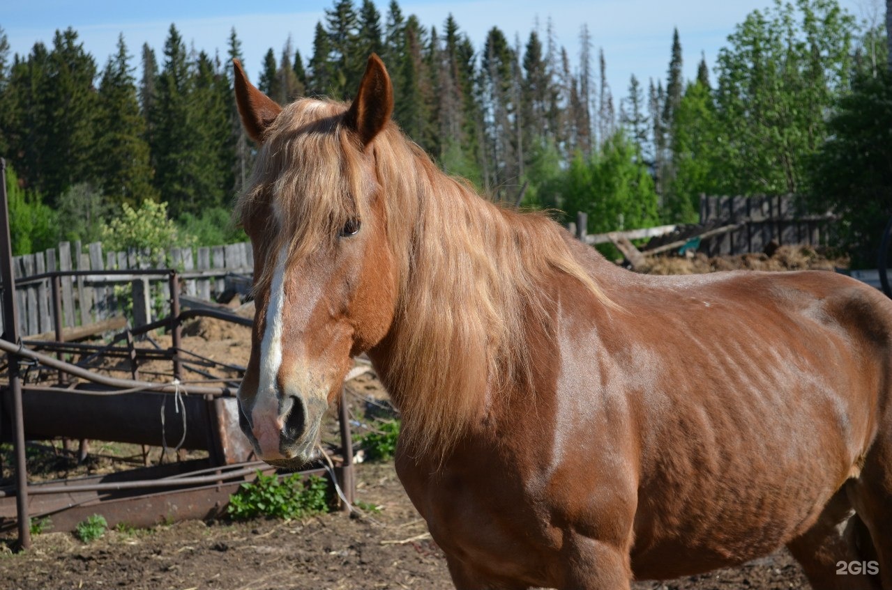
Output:
[[[19,318],[15,306],[15,277],[12,275],[12,237],[9,226],[9,201],[6,195],[6,160],[0,158],[0,276],[2,276],[4,344],[15,348],[19,342]],[[9,358],[9,390],[12,394],[12,431],[15,446],[15,506],[19,523],[19,545],[31,546],[31,527],[28,514],[28,463],[25,461],[25,419],[21,406],[21,378],[19,359],[6,350]]]

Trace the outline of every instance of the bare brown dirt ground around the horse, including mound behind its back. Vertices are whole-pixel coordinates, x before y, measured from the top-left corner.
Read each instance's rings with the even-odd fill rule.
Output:
[[[832,268],[835,261],[813,250],[780,250],[774,257],[747,255],[737,261],[705,257],[664,259],[650,272],[708,272],[728,266],[752,268]],[[243,309],[250,313],[250,309]],[[247,329],[202,319],[186,327],[184,348],[232,365],[247,363]],[[167,346],[159,337],[161,346]],[[143,378],[169,370],[163,364],[140,367]],[[164,378],[159,374],[158,378]],[[373,375],[352,381],[351,412],[368,419],[359,400],[385,397]],[[105,448],[98,445],[94,449]],[[70,473],[109,469],[109,461]],[[79,471],[78,471],[79,470]],[[232,523],[186,521],[154,529],[109,531],[90,544],[69,533],[34,537],[27,553],[0,545],[3,590],[283,590],[346,588],[452,588],[446,562],[401,488],[391,463],[357,467],[356,498],[374,511],[333,512],[301,521],[253,520]],[[65,471],[66,473],[69,471]],[[12,544],[12,537],[2,539]],[[636,590],[726,590],[807,588],[789,553],[781,551],[739,568],[668,582],[638,582]]]

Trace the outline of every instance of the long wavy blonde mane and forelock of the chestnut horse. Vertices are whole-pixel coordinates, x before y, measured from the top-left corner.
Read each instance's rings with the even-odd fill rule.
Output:
[[[246,219],[275,194],[271,206],[289,231],[269,232],[268,246],[310,251],[351,217],[364,217],[368,204],[359,197],[368,194],[368,183],[380,184],[400,277],[382,377],[401,410],[402,444],[416,456],[442,457],[483,415],[487,391],[500,396],[532,382],[527,330],[539,322],[550,334],[543,283],[565,273],[611,302],[558,225],[484,200],[445,175],[394,124],[369,146],[376,175],[369,178],[355,138],[341,125],[346,109],[314,99],[286,107],[268,129],[253,188],[239,199],[236,215]],[[257,288],[268,287],[271,266]]]

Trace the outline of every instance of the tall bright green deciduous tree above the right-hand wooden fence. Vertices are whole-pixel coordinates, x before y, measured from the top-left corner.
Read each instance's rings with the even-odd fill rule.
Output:
[[[718,59],[724,193],[797,193],[847,86],[854,19],[835,0],[775,0],[752,12]]]

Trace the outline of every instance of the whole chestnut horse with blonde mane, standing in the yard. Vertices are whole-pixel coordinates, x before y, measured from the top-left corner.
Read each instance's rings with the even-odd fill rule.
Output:
[[[350,105],[280,107],[237,62],[235,90],[260,144],[236,206],[257,305],[238,399],[260,457],[300,467],[367,352],[458,588],[629,588],[787,545],[815,588],[892,590],[879,291],[618,268],[443,174],[391,121],[374,55]]]

